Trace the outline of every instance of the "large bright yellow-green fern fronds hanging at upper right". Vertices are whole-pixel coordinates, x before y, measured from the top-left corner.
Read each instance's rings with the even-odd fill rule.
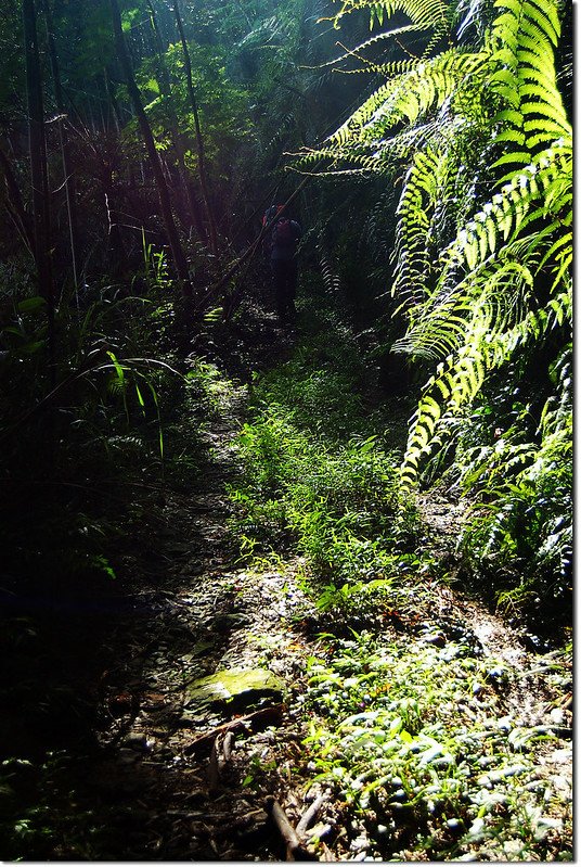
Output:
[[[435,33],[451,20],[432,2],[359,0],[341,3],[335,23],[363,8],[372,22],[400,11]],[[385,82],[302,155],[304,167],[326,157],[327,173],[385,174],[408,162],[392,286],[409,328],[393,349],[437,368],[412,420],[405,485],[438,446],[442,422],[492,370],[571,320],[572,143],[554,60],[558,8],[496,0],[494,12],[472,49],[375,65]]]

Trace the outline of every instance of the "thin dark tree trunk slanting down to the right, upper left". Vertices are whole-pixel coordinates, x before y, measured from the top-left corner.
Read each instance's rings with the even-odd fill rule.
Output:
[[[143,103],[141,101],[141,93],[139,92],[139,88],[133,77],[133,69],[131,68],[131,62],[129,59],[129,54],[127,51],[121,29],[121,16],[119,13],[119,4],[117,0],[109,0],[109,4],[113,17],[113,29],[115,33],[117,52],[119,54],[119,60],[121,62],[121,66],[125,73],[129,97],[131,99],[131,102],[133,103],[133,110],[138,117],[141,135],[143,136],[145,149],[147,151],[147,155],[152,164],[152,170],[154,174],[155,183],[157,186],[157,193],[159,196],[162,216],[164,218],[169,246],[171,248],[173,265],[176,268],[176,272],[178,275],[178,279],[181,284],[183,296],[186,299],[186,302],[190,302],[193,297],[193,290],[188,269],[188,262],[185,259],[185,254],[183,252],[180,238],[178,235],[178,230],[176,228],[176,222],[173,220],[173,214],[171,213],[169,192],[166,179],[164,177],[162,163],[159,161],[159,154],[157,153],[157,149],[155,146],[155,141],[153,138],[153,132],[150,126],[150,122],[147,120],[147,115],[145,114],[145,110],[143,109]]]

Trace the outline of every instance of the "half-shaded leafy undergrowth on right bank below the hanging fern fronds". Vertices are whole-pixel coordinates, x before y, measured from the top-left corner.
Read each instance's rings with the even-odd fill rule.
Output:
[[[560,640],[572,592],[570,346],[548,375],[543,367],[534,379],[515,367],[483,390],[451,422],[455,448],[428,467],[426,483],[439,476],[468,506],[457,553],[473,586],[508,619]]]

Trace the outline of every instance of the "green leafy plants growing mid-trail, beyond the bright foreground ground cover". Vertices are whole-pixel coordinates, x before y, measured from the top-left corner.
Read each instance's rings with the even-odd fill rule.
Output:
[[[321,305],[306,306],[301,322],[293,357],[254,382],[231,530],[246,560],[292,545],[319,604],[340,607],[397,583],[415,559],[418,526],[399,496],[400,455],[364,411],[369,371],[354,339]]]

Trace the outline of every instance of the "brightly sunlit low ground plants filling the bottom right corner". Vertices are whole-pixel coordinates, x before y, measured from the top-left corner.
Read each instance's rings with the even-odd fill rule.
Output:
[[[405,641],[322,636],[299,699],[311,785],[332,787],[376,858],[570,859],[570,803],[540,758],[555,732],[499,713],[518,672],[469,630],[436,639],[427,623]],[[544,658],[547,684],[565,684],[564,662]]]

